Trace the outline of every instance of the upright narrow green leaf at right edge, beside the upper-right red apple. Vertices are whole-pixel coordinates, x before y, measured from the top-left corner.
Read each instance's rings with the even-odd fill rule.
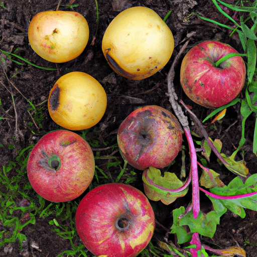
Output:
[[[247,44],[247,77],[248,77],[248,85],[251,83],[255,67],[256,67],[256,46],[253,39],[248,39]]]

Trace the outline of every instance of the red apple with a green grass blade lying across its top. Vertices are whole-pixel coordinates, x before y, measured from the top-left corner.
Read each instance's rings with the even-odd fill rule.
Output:
[[[219,67],[214,66],[229,53],[238,52],[217,41],[204,41],[187,52],[181,64],[180,83],[192,101],[216,108],[229,103],[240,93],[246,74],[242,57],[232,57]]]

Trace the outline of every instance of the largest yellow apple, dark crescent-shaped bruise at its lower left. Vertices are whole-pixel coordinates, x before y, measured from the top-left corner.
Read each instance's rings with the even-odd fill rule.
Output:
[[[163,68],[173,49],[171,30],[147,7],[132,7],[119,13],[102,39],[102,51],[110,67],[133,80],[150,77]]]

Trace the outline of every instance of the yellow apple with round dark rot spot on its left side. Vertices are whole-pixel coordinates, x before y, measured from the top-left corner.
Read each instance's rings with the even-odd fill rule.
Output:
[[[60,77],[50,91],[51,118],[65,129],[89,129],[102,118],[107,96],[101,84],[84,72],[74,71]]]

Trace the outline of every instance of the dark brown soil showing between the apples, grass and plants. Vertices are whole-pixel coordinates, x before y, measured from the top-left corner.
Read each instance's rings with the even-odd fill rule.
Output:
[[[227,2],[233,3],[233,1]],[[19,50],[16,54],[30,62],[43,67],[55,68],[55,64],[42,59],[32,50],[29,45],[27,31],[31,19],[37,13],[55,10],[58,1],[3,0],[0,3],[3,3],[4,7],[6,7],[6,10],[0,7],[0,49],[14,52],[18,48]],[[67,4],[68,0],[63,0],[59,10],[67,10],[65,7]],[[236,36],[229,38],[230,32],[228,30],[204,22],[193,14],[193,12],[201,13],[201,15],[209,19],[229,24],[229,21],[215,9],[210,0],[98,0],[99,26],[94,45],[91,45],[91,42],[96,30],[95,1],[77,0],[75,4],[79,6],[74,11],[81,13],[88,21],[90,29],[89,43],[84,52],[75,60],[57,64],[58,72],[42,70],[23,61],[21,61],[23,65],[19,65],[12,62],[5,55],[0,54],[0,57],[4,58],[6,62],[6,67],[2,66],[0,73],[0,98],[2,104],[0,106],[0,117],[4,118],[0,120],[0,144],[3,145],[0,148],[1,167],[2,165],[7,166],[10,160],[15,160],[18,150],[25,149],[30,144],[35,144],[44,134],[59,128],[50,118],[47,99],[55,81],[68,71],[83,71],[90,74],[102,84],[106,91],[108,98],[107,109],[101,121],[95,126],[99,135],[99,148],[105,148],[104,141],[110,141],[115,137],[121,121],[138,106],[155,104],[171,110],[169,99],[166,96],[167,83],[165,79],[174,57],[178,54],[183,42],[185,42],[183,40],[189,33],[192,35],[189,47],[203,40],[215,39],[230,44],[238,52],[243,52]],[[132,81],[114,73],[108,66],[101,51],[101,39],[110,21],[120,11],[132,6],[149,7],[162,18],[172,10],[170,17],[166,21],[175,39],[175,49],[171,60],[160,72],[141,81]],[[233,14],[230,13],[230,15]],[[239,19],[239,16],[237,19]],[[15,57],[14,59],[17,60]],[[176,68],[175,90],[179,99],[183,99],[186,104],[192,106],[192,111],[198,118],[203,120],[210,113],[210,110],[193,103],[183,93],[179,83],[181,61],[179,61]],[[15,107],[11,94],[13,94]],[[25,97],[32,101],[37,108],[43,107],[42,114],[44,119],[41,121],[42,127],[39,127],[38,130],[28,112],[30,106]],[[33,112],[32,115],[34,115]],[[215,122],[215,126],[208,121],[204,124],[212,139],[220,139],[222,141],[222,153],[227,156],[232,154],[240,141],[241,119],[240,104],[238,103],[227,109],[222,122]],[[250,174],[256,173],[257,169],[257,157],[252,153],[254,123],[255,116],[251,114],[245,124],[246,141],[242,148],[244,160]],[[197,132],[197,128],[193,124],[191,129]],[[14,148],[10,148],[10,145],[13,145]],[[102,153],[103,155],[110,154],[104,151]],[[122,161],[118,151],[114,153],[114,156]],[[240,158],[242,156],[238,155],[238,160]],[[223,166],[218,165],[216,158],[212,157],[212,159],[213,164],[210,164],[210,168],[219,172],[221,174],[220,178],[227,184],[234,178],[234,175],[229,173]],[[104,170],[106,163],[101,165]],[[129,166],[127,169],[130,170],[131,167]],[[141,174],[140,172],[137,173],[138,180],[133,185],[143,190]],[[186,206],[187,203],[187,200],[183,199],[178,199],[169,206],[158,202],[156,219],[169,229],[172,225],[172,210],[183,204]],[[201,207],[204,207],[204,203],[202,203]],[[27,245],[24,245],[25,250],[20,251],[16,242],[12,245],[5,245],[3,247],[5,251],[0,249],[0,256],[55,257],[64,250],[71,249],[69,240],[57,236],[55,231],[51,229],[49,225],[50,219],[51,216],[45,219],[37,217],[34,225],[28,225],[24,228],[23,233],[27,236]],[[256,224],[257,215],[253,211],[246,210],[246,217],[243,219],[233,216],[228,211],[221,217],[220,225],[217,226],[214,237],[212,239],[208,238],[208,240],[223,248],[239,245],[245,249],[247,256],[254,257],[257,256]],[[3,228],[1,221],[0,225]],[[166,231],[157,225],[153,241],[157,237],[162,239],[165,233]],[[79,240],[79,238],[76,240]],[[31,242],[36,242],[42,252],[32,249],[28,242],[30,244]]]

